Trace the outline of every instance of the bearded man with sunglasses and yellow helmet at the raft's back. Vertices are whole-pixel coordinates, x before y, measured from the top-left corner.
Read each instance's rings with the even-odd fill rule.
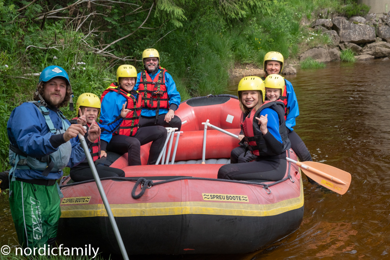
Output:
[[[159,66],[160,56],[156,49],[144,50],[142,61],[145,69],[138,73],[134,88],[142,96],[139,127],[162,125],[180,131],[181,120],[175,116],[180,94],[175,81],[166,69]]]

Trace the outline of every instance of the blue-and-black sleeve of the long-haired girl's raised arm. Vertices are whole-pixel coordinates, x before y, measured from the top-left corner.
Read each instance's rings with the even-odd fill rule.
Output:
[[[263,138],[274,154],[281,154],[283,152],[283,142],[279,134],[279,118],[277,113],[271,108],[265,108],[260,112],[260,115],[262,116],[265,116],[266,114],[268,115],[268,132]]]

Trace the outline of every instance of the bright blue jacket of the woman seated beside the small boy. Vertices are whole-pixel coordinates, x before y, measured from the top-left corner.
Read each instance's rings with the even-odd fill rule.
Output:
[[[133,95],[134,96],[134,95]],[[137,98],[137,97],[135,97]],[[116,124],[111,124],[113,121],[120,116],[120,112],[122,111],[122,105],[127,102],[127,99],[122,95],[118,94],[115,91],[109,91],[101,102],[100,109],[100,123],[99,126],[106,128],[106,126],[111,125],[115,127]],[[122,123],[123,119],[118,120],[118,124],[116,128]],[[115,131],[114,130],[114,131]],[[100,139],[106,142],[110,142],[112,138],[112,133],[114,131],[101,131]]]

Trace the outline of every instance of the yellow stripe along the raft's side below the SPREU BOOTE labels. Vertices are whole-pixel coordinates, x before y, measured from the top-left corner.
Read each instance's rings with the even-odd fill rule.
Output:
[[[186,214],[264,217],[274,216],[301,208],[304,203],[303,185],[297,198],[273,204],[244,204],[221,202],[156,202],[134,204],[110,204],[114,217],[170,216]],[[107,217],[104,204],[61,206],[61,218]]]

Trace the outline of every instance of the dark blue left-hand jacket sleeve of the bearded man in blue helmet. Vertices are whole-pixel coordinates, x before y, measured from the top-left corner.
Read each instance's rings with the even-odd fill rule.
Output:
[[[41,134],[47,131],[44,128],[47,128],[46,122],[38,108],[31,103],[23,103],[12,111],[7,133],[13,145],[26,155],[39,158],[58,150],[50,142],[53,133]]]

